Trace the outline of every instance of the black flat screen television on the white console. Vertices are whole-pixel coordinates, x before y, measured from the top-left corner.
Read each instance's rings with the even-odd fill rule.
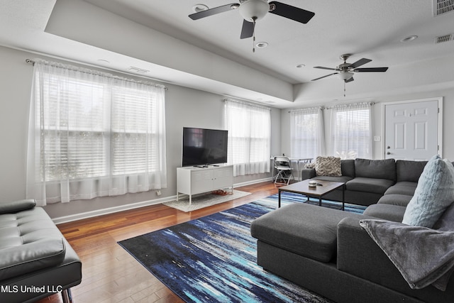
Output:
[[[228,131],[183,128],[183,166],[214,165],[227,162]]]

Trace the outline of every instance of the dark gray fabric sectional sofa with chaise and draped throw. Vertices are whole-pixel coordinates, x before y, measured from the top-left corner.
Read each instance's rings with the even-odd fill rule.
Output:
[[[258,265],[334,302],[454,302],[454,277],[444,292],[432,285],[411,289],[360,226],[363,219],[402,222],[425,165],[343,160],[342,177],[315,179],[346,182],[347,202],[369,205],[365,213],[295,203],[265,214],[250,228],[258,240]],[[305,177],[315,177],[312,174],[303,171]],[[340,194],[333,193],[331,199]]]

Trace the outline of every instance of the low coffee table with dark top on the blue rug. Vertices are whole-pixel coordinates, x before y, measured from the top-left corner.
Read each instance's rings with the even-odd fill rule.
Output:
[[[317,182],[316,187],[309,187],[309,181],[314,181],[314,179],[307,179],[301,182],[289,184],[284,187],[279,187],[279,204],[281,206],[281,192],[294,192],[297,194],[304,194],[307,197],[318,197],[319,205],[321,206],[321,197],[328,192],[332,192],[340,187],[342,187],[342,210],[344,209],[344,193],[345,193],[345,183],[344,182],[332,182],[332,181],[323,181],[315,180]]]

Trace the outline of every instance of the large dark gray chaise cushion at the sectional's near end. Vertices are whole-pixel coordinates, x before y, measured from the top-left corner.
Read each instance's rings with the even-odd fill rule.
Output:
[[[337,224],[346,216],[362,217],[310,204],[289,204],[255,219],[250,233],[272,246],[329,262],[336,255]]]

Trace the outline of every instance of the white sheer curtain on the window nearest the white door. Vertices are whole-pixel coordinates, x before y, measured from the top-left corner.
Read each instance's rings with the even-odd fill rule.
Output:
[[[372,159],[372,104],[333,106],[331,136],[333,155],[343,159]]]

